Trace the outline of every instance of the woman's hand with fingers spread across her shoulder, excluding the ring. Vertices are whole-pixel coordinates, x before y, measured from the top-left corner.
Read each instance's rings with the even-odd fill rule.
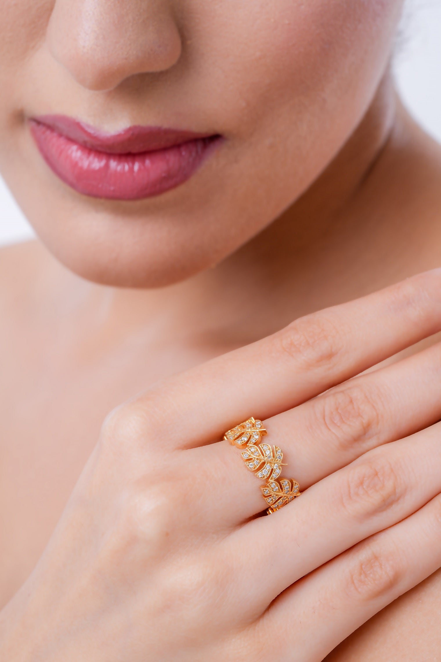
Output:
[[[440,329],[437,270],[112,412],[1,614],[0,658],[323,659],[441,566],[441,347],[354,377]],[[239,451],[216,443],[250,415],[308,488],[271,516]]]

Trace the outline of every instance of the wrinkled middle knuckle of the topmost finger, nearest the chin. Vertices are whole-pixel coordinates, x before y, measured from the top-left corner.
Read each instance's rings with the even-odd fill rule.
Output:
[[[332,366],[344,349],[341,330],[323,313],[292,322],[276,338],[283,354],[307,367]]]

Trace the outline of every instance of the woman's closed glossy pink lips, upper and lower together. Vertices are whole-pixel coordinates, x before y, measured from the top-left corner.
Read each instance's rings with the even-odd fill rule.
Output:
[[[44,160],[75,191],[92,197],[139,200],[183,184],[221,136],[159,126],[130,126],[115,134],[63,115],[30,120]]]

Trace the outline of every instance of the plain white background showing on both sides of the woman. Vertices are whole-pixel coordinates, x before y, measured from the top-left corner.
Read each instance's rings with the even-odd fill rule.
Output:
[[[441,0],[408,1],[395,60],[397,83],[407,107],[441,142]],[[32,229],[0,179],[0,244],[32,236]]]

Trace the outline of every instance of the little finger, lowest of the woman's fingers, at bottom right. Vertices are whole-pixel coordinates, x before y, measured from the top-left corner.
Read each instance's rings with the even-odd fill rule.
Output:
[[[321,661],[387,604],[441,567],[441,496],[284,591],[259,622],[278,653]],[[252,631],[256,642],[256,629]],[[264,645],[264,643],[262,642]],[[262,649],[261,649],[262,650]]]

